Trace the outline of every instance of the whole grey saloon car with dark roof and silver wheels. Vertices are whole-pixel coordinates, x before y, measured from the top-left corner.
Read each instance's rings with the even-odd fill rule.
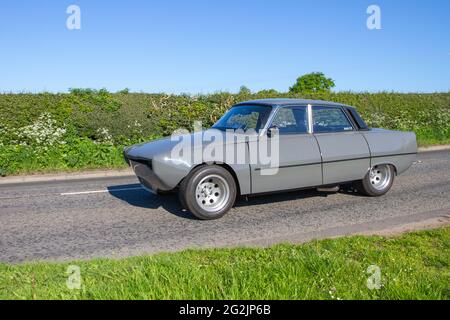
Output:
[[[144,189],[177,191],[205,220],[222,217],[240,195],[345,184],[381,196],[416,155],[412,132],[369,128],[354,107],[300,99],[242,102],[208,130],[124,150]]]

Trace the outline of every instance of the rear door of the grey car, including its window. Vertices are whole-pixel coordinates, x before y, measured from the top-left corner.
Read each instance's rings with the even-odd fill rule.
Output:
[[[313,106],[313,132],[322,154],[323,184],[362,179],[370,168],[370,151],[341,107]]]

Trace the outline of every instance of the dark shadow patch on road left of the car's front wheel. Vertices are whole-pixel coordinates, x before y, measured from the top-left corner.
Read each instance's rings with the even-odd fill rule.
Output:
[[[140,184],[127,184],[110,186],[107,189],[110,195],[134,207],[144,209],[163,208],[180,218],[196,219],[190,212],[182,209],[176,194],[154,195],[139,188]]]

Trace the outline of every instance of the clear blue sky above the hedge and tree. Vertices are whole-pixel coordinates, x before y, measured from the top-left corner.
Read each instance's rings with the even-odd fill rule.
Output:
[[[81,8],[81,30],[66,9]],[[382,30],[366,9],[381,8]],[[2,0],[0,91],[450,90],[448,0]]]

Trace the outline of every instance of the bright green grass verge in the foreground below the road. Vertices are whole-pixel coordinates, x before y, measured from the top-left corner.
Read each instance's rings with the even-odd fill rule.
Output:
[[[271,248],[0,265],[0,299],[449,299],[450,228]],[[69,265],[81,290],[66,287]],[[381,269],[380,290],[367,268]]]

